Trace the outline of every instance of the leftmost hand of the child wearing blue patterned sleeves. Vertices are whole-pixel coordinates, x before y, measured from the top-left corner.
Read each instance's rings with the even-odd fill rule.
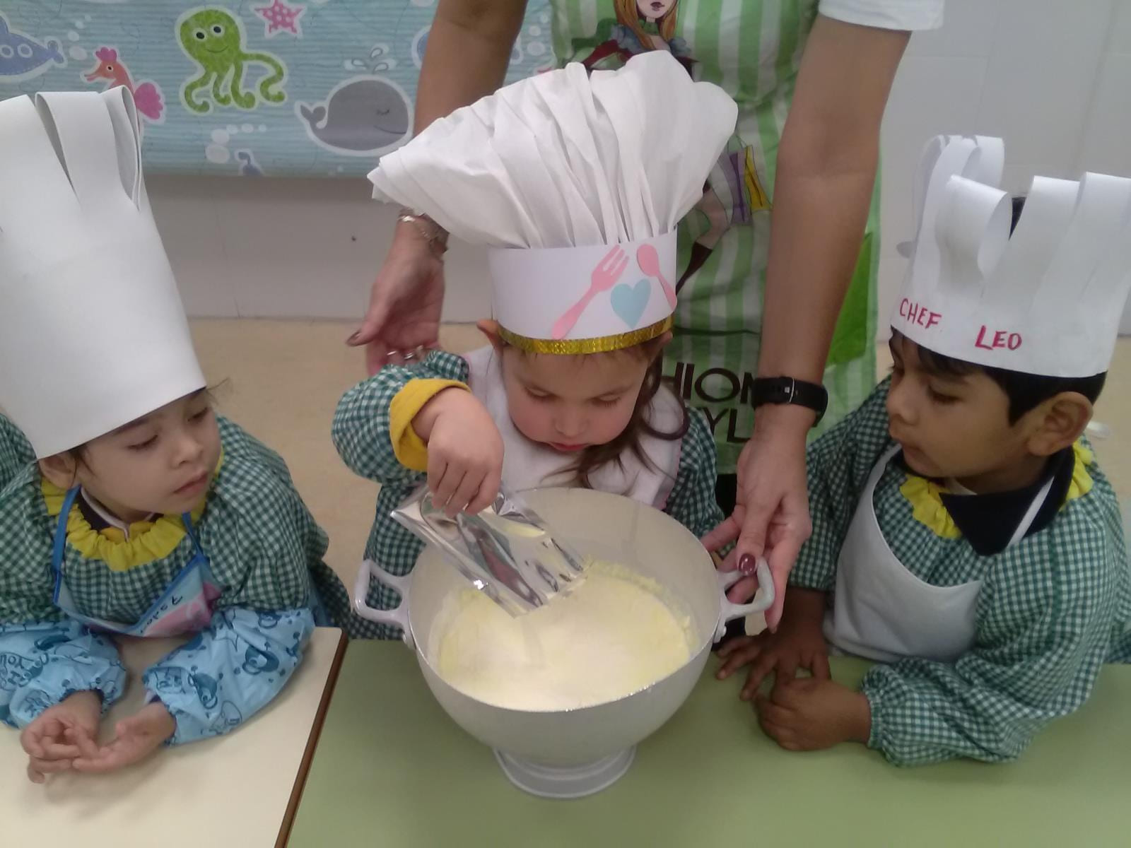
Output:
[[[19,736],[28,756],[28,779],[42,784],[48,775],[68,771],[84,752],[94,750],[101,717],[97,692],[75,692],[41,712]]]

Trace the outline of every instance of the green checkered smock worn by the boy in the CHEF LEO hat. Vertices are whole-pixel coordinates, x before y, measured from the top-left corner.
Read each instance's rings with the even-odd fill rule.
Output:
[[[809,451],[813,536],[792,586],[832,592],[837,557],[888,435],[882,383],[864,405]],[[1128,658],[1131,576],[1119,503],[1095,462],[1078,453],[1073,487],[1044,529],[999,554],[981,556],[956,531],[940,535],[914,514],[900,488],[909,479],[889,462],[874,493],[875,517],[899,561],[932,586],[982,581],[976,642],[956,663],[901,659],[877,665],[862,691],[872,708],[869,745],[900,765],[952,758],[1018,756],[1048,721],[1082,704],[1107,658]]]

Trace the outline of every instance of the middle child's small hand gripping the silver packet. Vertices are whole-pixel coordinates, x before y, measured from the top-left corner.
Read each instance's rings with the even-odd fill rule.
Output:
[[[502,436],[486,407],[461,388],[444,389],[413,418],[428,444],[428,487],[444,512],[480,512],[499,494]]]

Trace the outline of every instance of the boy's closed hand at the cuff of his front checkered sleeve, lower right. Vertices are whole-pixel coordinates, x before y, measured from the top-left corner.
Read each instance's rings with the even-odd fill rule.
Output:
[[[754,708],[762,730],[786,751],[867,744],[872,734],[867,698],[829,680],[780,681],[769,698],[754,698]]]

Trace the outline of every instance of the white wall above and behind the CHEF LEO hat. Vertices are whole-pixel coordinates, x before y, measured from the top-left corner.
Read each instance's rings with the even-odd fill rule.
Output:
[[[1129,0],[947,0],[946,17],[913,36],[884,114],[881,318],[904,272],[896,245],[912,237],[912,174],[930,136],[1004,138],[1003,188],[1015,193],[1034,174],[1131,176]],[[1123,323],[1131,332],[1131,305]]]

